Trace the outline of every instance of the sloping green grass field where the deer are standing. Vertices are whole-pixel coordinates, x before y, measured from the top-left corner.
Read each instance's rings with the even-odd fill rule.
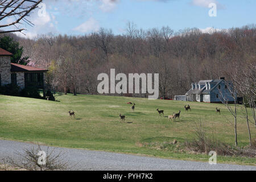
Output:
[[[195,122],[204,123],[208,134],[223,142],[234,144],[232,115],[222,104],[148,100],[145,98],[112,96],[59,96],[60,102],[32,98],[0,96],[0,138],[41,142],[52,146],[85,148],[208,162],[207,154],[189,154],[176,150],[148,147],[145,143],[179,143],[195,138]],[[135,102],[131,111],[126,102]],[[192,111],[185,112],[189,104]],[[221,108],[221,115],[215,113]],[[156,109],[164,110],[159,117]],[[76,119],[69,117],[74,110]],[[168,121],[168,114],[181,110],[180,120]],[[238,110],[238,146],[249,144],[246,120]],[[120,122],[119,114],[126,116]],[[256,129],[251,127],[251,137]],[[255,165],[255,158],[217,156],[218,163]]]

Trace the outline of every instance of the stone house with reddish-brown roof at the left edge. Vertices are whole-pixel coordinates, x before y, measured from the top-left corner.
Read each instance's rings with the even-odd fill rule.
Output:
[[[47,70],[11,63],[12,55],[12,53],[0,48],[0,86],[15,84],[20,89],[27,87],[43,89],[45,97],[45,73]]]

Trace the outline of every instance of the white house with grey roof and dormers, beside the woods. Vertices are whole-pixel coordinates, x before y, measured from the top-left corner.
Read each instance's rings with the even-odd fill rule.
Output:
[[[216,80],[200,80],[192,83],[191,89],[185,95],[188,101],[220,103],[223,101],[223,96],[228,102],[234,102],[229,88],[232,88],[232,82],[225,81],[224,77]]]

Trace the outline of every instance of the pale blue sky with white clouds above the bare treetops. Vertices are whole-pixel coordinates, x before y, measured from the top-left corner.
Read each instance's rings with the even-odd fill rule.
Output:
[[[216,11],[209,7],[211,3]],[[174,31],[221,30],[256,23],[255,7],[255,0],[44,0],[30,16],[35,26],[24,24],[26,35],[16,34],[27,38],[48,32],[84,35],[103,27],[122,35],[127,22],[144,30],[163,26]]]

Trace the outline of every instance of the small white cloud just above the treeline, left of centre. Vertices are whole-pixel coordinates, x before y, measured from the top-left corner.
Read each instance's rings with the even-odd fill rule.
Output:
[[[75,31],[79,32],[92,32],[98,31],[100,26],[94,18],[89,18],[86,22],[80,24],[80,26],[73,28]]]

